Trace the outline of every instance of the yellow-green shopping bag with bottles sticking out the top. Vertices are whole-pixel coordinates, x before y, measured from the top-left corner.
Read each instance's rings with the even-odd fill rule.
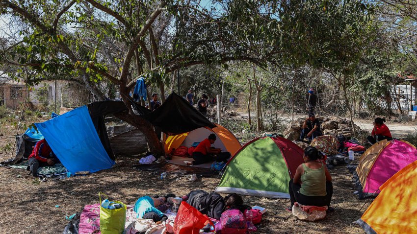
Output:
[[[119,201],[113,201],[114,203],[120,203],[122,208],[116,210],[105,209],[102,207],[102,196],[108,199],[107,195],[99,192],[100,198],[100,231],[102,234],[122,234],[125,231],[126,223],[126,210],[125,204]]]

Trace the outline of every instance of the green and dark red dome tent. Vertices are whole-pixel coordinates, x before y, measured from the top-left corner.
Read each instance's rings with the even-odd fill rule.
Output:
[[[216,192],[289,198],[288,183],[304,163],[303,149],[282,137],[264,137],[245,144],[229,160]]]

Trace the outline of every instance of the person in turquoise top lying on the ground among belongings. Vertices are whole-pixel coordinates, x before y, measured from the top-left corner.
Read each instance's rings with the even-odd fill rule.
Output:
[[[167,216],[162,213],[169,208],[165,201],[166,197],[140,197],[133,208],[137,213],[136,218],[152,219],[154,222],[167,220]]]

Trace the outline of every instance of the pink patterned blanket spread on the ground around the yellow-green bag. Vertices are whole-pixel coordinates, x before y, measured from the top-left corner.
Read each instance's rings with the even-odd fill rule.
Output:
[[[126,211],[125,228],[136,219],[134,205],[129,205]],[[101,234],[100,232],[100,204],[86,205],[79,218],[79,234]]]

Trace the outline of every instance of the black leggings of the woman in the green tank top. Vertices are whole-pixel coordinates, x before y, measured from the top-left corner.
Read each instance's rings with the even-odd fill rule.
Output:
[[[326,196],[306,196],[299,192],[300,188],[300,184],[294,184],[292,179],[289,181],[291,207],[294,205],[294,202],[298,202],[305,206],[330,207],[330,200],[332,200],[333,195],[333,184],[331,181],[326,182]]]

